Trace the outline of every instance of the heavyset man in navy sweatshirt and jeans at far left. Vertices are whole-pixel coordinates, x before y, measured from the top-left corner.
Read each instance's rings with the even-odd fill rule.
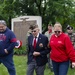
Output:
[[[16,75],[13,62],[13,49],[16,45],[14,33],[0,20],[0,63],[7,68],[9,75]]]

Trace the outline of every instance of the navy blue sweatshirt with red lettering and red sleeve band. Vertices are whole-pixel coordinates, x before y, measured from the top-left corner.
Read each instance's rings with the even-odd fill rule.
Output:
[[[10,29],[6,28],[4,32],[0,32],[0,57],[13,53],[15,45],[16,37]],[[5,53],[4,49],[7,49],[8,54]]]

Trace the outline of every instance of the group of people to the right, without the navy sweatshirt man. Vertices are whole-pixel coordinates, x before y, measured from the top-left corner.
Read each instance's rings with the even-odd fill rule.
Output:
[[[52,62],[54,75],[67,75],[70,61],[72,68],[75,67],[75,50],[73,47],[75,37],[71,40],[67,35],[69,33],[63,33],[62,25],[58,22],[54,24],[53,32],[51,26],[48,25],[49,30],[45,35],[40,34],[38,26],[35,26],[28,37],[27,75],[33,75],[34,70],[36,75],[44,75],[48,53],[50,53],[49,58]],[[71,31],[70,27],[67,28],[67,31]]]

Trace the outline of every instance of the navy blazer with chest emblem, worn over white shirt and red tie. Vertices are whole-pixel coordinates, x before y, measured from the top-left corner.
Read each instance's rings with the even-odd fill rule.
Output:
[[[28,37],[28,64],[32,62],[34,59],[33,52],[34,48],[32,45],[33,42],[33,35],[30,35]],[[39,44],[42,43],[43,47],[40,47]],[[36,52],[40,52],[40,56],[36,56],[36,63],[38,66],[43,66],[47,63],[47,54],[49,53],[49,49],[47,47],[48,45],[48,38],[44,36],[43,34],[39,34],[37,45],[36,45]]]

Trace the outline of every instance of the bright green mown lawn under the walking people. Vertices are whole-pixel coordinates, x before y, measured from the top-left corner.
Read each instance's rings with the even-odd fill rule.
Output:
[[[16,74],[26,75],[27,57],[14,55],[14,63],[16,67]],[[8,75],[7,69],[3,66],[3,64],[0,64],[0,75]],[[53,75],[53,72],[51,72],[50,69],[46,67],[45,75]],[[75,75],[75,69],[69,69],[67,75]]]

